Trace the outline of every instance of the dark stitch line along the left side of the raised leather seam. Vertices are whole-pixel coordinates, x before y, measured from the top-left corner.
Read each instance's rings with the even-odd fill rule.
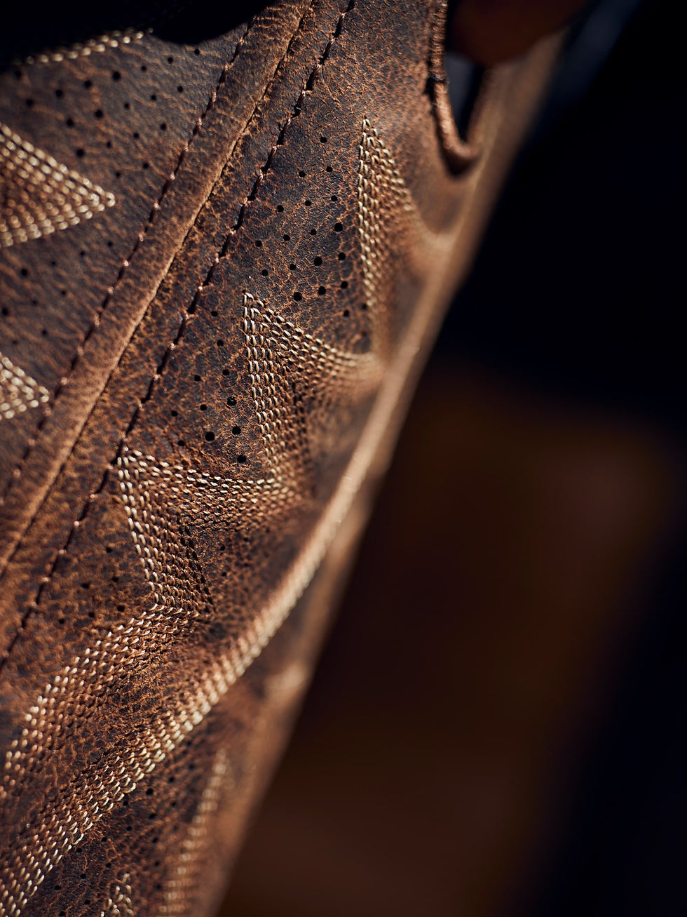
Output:
[[[217,85],[214,86],[211,91],[210,98],[208,100],[208,104],[205,106],[205,110],[202,112],[200,116],[196,118],[196,122],[193,125],[193,129],[191,130],[191,136],[188,138],[188,140],[184,143],[183,147],[181,148],[179,158],[176,162],[176,165],[174,166],[172,171],[169,172],[169,176],[166,182],[162,185],[162,190],[160,191],[157,200],[154,202],[154,204],[152,205],[150,209],[150,213],[148,214],[146,225],[143,227],[143,229],[139,231],[138,235],[136,236],[136,242],[134,243],[131,251],[126,256],[126,258],[122,261],[119,267],[117,276],[114,280],[114,284],[107,288],[107,292],[105,293],[104,300],[100,304],[95,315],[93,316],[93,321],[91,325],[88,327],[85,337],[83,337],[82,343],[76,348],[74,356],[71,358],[71,364],[70,364],[69,370],[67,370],[67,375],[62,376],[62,378],[60,379],[60,382],[58,383],[58,386],[55,389],[54,394],[52,395],[51,403],[47,405],[45,411],[43,412],[43,416],[38,421],[36,432],[32,436],[29,437],[27,441],[27,447],[24,450],[24,454],[19,459],[19,462],[16,465],[16,467],[12,470],[12,473],[9,476],[9,480],[7,481],[7,484],[5,486],[5,492],[3,492],[2,499],[0,500],[0,505],[5,503],[5,500],[9,496],[9,493],[12,491],[16,483],[18,483],[18,481],[21,480],[22,469],[26,465],[27,460],[29,456],[31,455],[31,452],[33,451],[34,447],[36,447],[38,443],[38,438],[43,430],[43,427],[48,422],[48,419],[54,410],[55,403],[57,402],[58,398],[60,397],[60,394],[64,391],[65,387],[67,386],[68,382],[70,381],[71,375],[73,374],[74,370],[76,370],[76,367],[79,365],[79,362],[83,356],[83,352],[86,348],[86,345],[88,344],[91,337],[93,337],[94,332],[100,327],[100,323],[101,323],[101,319],[103,317],[104,311],[107,308],[107,306],[110,304],[110,301],[112,300],[112,297],[114,296],[114,291],[117,289],[120,282],[122,282],[122,280],[124,279],[125,273],[131,263],[131,260],[136,255],[136,251],[140,247],[143,240],[146,238],[150,227],[153,226],[153,224],[155,223],[156,217],[158,215],[158,211],[160,209],[160,205],[162,204],[162,201],[164,200],[166,194],[169,192],[169,189],[171,188],[172,184],[174,183],[174,180],[176,179],[180,171],[180,168],[183,165],[183,161],[186,159],[186,155],[189,152],[189,150],[191,149],[191,144],[193,143],[195,138],[197,138],[198,135],[200,134],[205,118],[213,110],[214,105],[216,105],[217,93],[220,91],[220,89],[224,85],[227,74],[229,70],[231,69],[232,65],[234,64],[234,61],[236,60],[238,55],[241,53],[241,50],[243,50],[243,47],[245,44],[245,37],[248,34],[248,32],[250,31],[250,28],[252,27],[252,25],[253,25],[253,22],[251,22],[248,25],[248,27],[245,29],[244,34],[241,36],[240,39],[238,39],[238,43],[236,44],[236,47],[234,48],[234,54],[232,55],[231,61],[227,61],[224,64],[224,67],[222,68],[222,72],[220,73],[220,78],[217,82]]]

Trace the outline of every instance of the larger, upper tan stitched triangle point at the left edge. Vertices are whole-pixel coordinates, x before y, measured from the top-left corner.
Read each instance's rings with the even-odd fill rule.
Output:
[[[114,205],[104,191],[0,122],[0,249],[90,220]]]

